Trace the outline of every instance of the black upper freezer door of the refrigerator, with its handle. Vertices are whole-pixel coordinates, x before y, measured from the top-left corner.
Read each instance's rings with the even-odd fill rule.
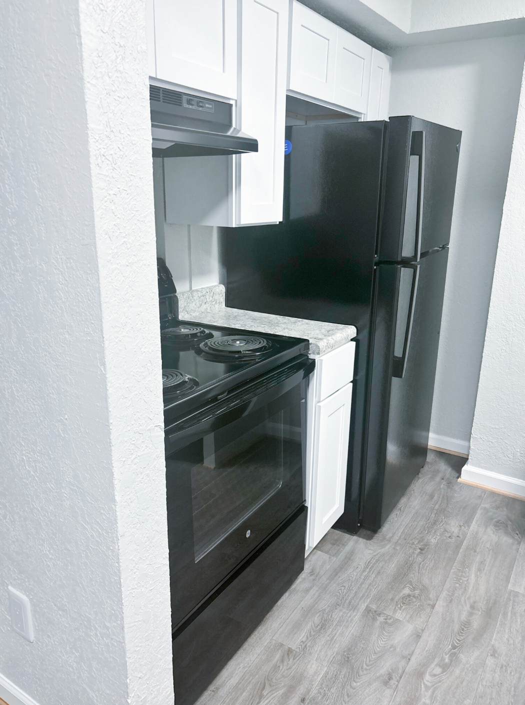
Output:
[[[390,118],[380,260],[417,262],[448,244],[460,142],[459,130]]]

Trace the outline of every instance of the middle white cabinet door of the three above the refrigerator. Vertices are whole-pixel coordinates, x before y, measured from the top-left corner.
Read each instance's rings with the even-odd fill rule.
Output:
[[[372,47],[338,27],[334,103],[366,114],[371,63]]]

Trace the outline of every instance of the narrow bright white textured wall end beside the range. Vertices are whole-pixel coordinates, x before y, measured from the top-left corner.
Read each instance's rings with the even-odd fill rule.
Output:
[[[80,0],[129,702],[171,705],[171,606],[144,0]]]

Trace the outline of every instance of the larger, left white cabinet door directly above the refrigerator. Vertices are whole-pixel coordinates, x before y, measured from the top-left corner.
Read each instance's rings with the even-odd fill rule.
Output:
[[[290,90],[333,102],[337,41],[333,23],[294,2]]]

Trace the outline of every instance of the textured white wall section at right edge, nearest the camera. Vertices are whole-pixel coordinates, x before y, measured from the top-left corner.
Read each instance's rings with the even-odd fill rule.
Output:
[[[498,244],[467,474],[516,479],[525,495],[525,79]],[[471,478],[470,478],[471,479]],[[485,476],[481,484],[500,486]],[[521,490],[520,490],[521,488]],[[509,487],[504,489],[509,490]],[[512,491],[512,489],[510,489]]]

